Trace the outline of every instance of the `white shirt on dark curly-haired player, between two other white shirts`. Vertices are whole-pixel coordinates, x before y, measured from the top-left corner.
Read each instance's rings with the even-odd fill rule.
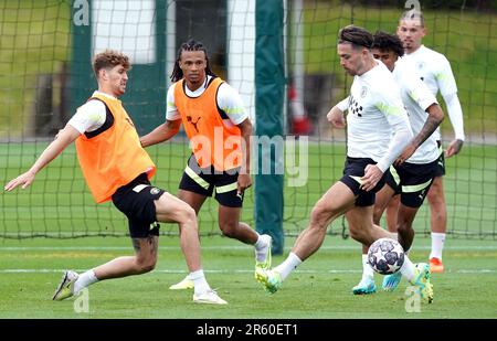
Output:
[[[408,110],[412,131],[416,136],[429,117],[426,113],[427,107],[438,103],[427,86],[421,81],[415,67],[409,60],[399,58],[392,74],[400,87],[402,103],[405,110]],[[406,161],[411,163],[430,163],[435,161],[440,156],[436,139],[435,134],[432,134]]]

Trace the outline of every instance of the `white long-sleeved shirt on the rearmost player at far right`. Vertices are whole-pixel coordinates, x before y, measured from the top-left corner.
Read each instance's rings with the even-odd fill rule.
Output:
[[[448,60],[436,51],[421,45],[416,51],[405,54],[405,60],[410,60],[417,68],[421,79],[426,84],[433,96],[436,97],[438,90],[447,104],[447,113],[454,128],[455,138],[464,140],[463,111],[458,99],[456,103],[447,103],[448,98],[457,97],[457,86],[452,73]],[[452,100],[450,100],[452,102]],[[440,128],[434,132],[437,140],[441,139]]]

